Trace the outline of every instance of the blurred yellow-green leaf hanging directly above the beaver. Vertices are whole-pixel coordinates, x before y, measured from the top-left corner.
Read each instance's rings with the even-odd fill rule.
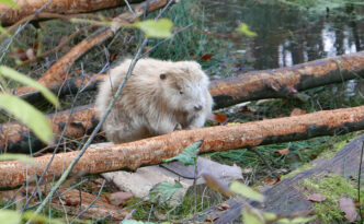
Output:
[[[140,28],[144,33],[146,33],[147,37],[167,38],[172,35],[171,30],[173,27],[173,23],[163,17],[158,21],[146,20],[137,22],[133,24],[133,26]]]

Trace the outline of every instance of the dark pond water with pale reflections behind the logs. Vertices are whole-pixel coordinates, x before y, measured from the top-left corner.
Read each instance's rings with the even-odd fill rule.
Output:
[[[237,61],[232,64],[236,72],[286,67],[364,49],[364,7],[345,4],[312,12],[259,2],[202,1],[209,32],[232,34],[243,22],[258,34],[254,38],[241,35],[238,39],[223,39],[229,43],[226,60]]]

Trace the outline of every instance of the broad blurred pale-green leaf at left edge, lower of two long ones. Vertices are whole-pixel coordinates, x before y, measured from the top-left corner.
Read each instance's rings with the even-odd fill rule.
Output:
[[[25,101],[13,95],[0,94],[0,108],[30,127],[43,142],[52,141],[53,132],[49,120]]]

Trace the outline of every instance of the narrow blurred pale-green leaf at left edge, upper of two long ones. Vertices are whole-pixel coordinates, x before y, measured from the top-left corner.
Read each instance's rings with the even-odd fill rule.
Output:
[[[52,104],[54,104],[55,106],[59,106],[58,99],[55,96],[55,94],[53,94],[47,87],[45,87],[44,85],[37,83],[36,81],[32,80],[31,78],[9,68],[9,67],[4,67],[4,66],[0,66],[0,74],[2,74],[3,76],[14,80],[16,82],[23,83],[25,85],[32,86],[36,90],[38,90],[42,95],[47,98]]]

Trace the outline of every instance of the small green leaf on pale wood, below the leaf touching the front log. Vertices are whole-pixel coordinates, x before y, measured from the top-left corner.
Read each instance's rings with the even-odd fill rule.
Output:
[[[170,199],[173,193],[182,188],[182,185],[178,181],[174,181],[174,185],[169,182],[159,182],[150,190],[150,201],[162,203]]]

